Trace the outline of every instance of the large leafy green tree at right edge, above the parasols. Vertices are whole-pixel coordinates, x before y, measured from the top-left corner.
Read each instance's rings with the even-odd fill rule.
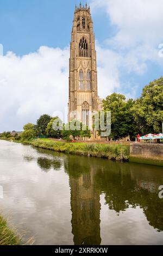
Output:
[[[136,127],[142,135],[162,132],[163,77],[143,88],[142,95],[131,109]]]

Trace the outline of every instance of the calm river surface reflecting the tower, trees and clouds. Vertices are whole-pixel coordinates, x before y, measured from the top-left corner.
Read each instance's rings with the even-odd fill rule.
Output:
[[[0,211],[36,245],[163,244],[160,185],[161,167],[0,141]]]

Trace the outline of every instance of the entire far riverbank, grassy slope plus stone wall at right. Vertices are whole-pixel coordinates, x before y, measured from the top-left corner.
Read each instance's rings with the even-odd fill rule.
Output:
[[[2,140],[10,141],[11,138],[0,138]],[[143,144],[130,143],[97,143],[97,142],[74,142],[57,141],[49,138],[34,139],[33,141],[23,142],[21,140],[16,143],[30,144],[37,148],[60,151],[68,154],[78,154],[83,156],[102,157],[114,161],[145,163],[163,166],[162,147],[160,144]],[[161,148],[161,150],[160,150]],[[133,150],[134,149],[134,150]],[[152,149],[152,150],[151,150]],[[154,149],[154,150],[153,150]]]

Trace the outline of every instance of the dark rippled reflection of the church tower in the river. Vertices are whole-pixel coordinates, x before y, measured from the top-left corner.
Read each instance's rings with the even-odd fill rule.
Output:
[[[70,176],[74,245],[100,245],[100,192],[95,190],[93,170],[79,178]]]

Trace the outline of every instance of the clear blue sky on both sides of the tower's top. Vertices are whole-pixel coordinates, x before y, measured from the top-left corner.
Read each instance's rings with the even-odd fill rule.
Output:
[[[85,1],[83,1],[85,2]],[[12,51],[18,55],[36,51],[40,46],[66,47],[71,39],[74,7],[79,1],[56,0],[0,0],[1,44],[4,54]],[[103,43],[104,29],[114,29],[106,22],[106,14],[93,15],[96,39]]]

